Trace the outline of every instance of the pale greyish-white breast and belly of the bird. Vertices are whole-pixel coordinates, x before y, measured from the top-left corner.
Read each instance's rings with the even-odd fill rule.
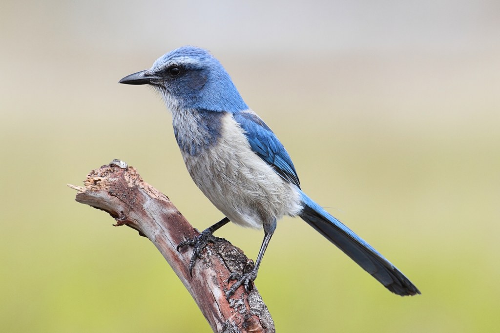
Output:
[[[221,121],[217,144],[195,155],[181,151],[196,185],[231,221],[244,226],[262,227],[285,214],[296,215],[302,209],[297,187],[251,150],[230,113]]]

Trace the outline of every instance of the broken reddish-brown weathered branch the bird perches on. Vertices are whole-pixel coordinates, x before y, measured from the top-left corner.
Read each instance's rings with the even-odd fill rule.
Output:
[[[108,212],[115,225],[130,226],[153,242],[170,264],[215,332],[274,332],[274,323],[256,288],[239,287],[225,298],[227,277],[241,271],[248,258],[229,242],[209,244],[188,271],[192,248],[175,247],[198,233],[164,194],[144,182],[133,167],[114,160],[92,170],[76,201]],[[231,283],[231,282],[229,282]]]

